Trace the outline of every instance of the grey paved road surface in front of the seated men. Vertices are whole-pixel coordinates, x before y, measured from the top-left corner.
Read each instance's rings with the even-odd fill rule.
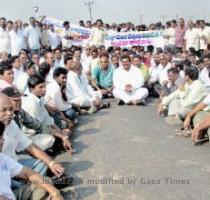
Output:
[[[209,143],[195,147],[189,138],[175,136],[176,128],[157,117],[154,104],[113,102],[109,110],[84,116],[81,124],[74,136],[77,154],[58,158],[70,160],[72,199],[210,198]]]

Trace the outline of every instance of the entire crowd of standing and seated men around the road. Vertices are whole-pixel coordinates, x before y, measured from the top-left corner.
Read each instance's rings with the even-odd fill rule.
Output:
[[[110,98],[136,106],[156,98],[158,114],[180,125],[177,135],[208,140],[210,28],[203,20],[80,26],[93,29],[84,47],[72,46],[78,36],[68,21],[59,34],[34,17],[30,24],[0,18],[0,200],[62,200],[59,189],[72,177],[54,158],[76,152],[79,116],[109,108]],[[104,46],[107,32],[146,30],[163,31],[165,47]]]

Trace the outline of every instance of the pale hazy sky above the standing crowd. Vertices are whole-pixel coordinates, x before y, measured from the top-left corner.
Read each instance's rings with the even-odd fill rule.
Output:
[[[41,15],[77,23],[89,19],[88,0],[0,0],[0,16],[23,19],[34,15],[33,7],[39,6]],[[209,0],[95,0],[92,6],[93,20],[104,22],[127,22],[135,24],[174,19],[176,16],[210,21]],[[142,15],[142,19],[140,17]]]

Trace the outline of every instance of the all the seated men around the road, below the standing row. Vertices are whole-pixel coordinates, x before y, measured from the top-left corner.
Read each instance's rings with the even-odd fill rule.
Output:
[[[78,116],[109,108],[109,98],[144,105],[148,96],[159,97],[158,113],[169,123],[181,122],[180,135],[195,142],[210,127],[208,52],[197,58],[190,51],[87,46],[54,49],[41,58],[21,50],[0,59],[0,200],[63,199],[59,189],[66,185],[58,180],[72,178],[53,158],[75,152],[70,136]]]

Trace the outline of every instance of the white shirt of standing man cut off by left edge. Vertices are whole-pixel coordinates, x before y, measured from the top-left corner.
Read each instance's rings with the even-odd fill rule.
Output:
[[[9,32],[0,27],[0,52],[11,52],[11,38]]]

